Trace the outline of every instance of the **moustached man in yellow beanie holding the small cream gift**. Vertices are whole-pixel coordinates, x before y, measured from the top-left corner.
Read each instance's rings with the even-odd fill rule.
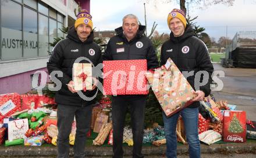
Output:
[[[102,63],[102,54],[97,43],[93,42],[93,21],[87,10],[81,10],[77,15],[74,27],[71,27],[67,38],[58,42],[52,50],[47,68],[49,73],[59,71],[63,75],[56,75],[62,83],[62,87],[55,95],[58,103],[58,156],[69,157],[69,134],[74,117],[76,118],[76,137],[74,141],[74,157],[84,157],[86,133],[90,129],[92,113],[92,101],[86,101],[79,97],[74,90],[72,80],[72,67],[79,57],[88,58],[94,66]],[[83,60],[81,63],[89,63]],[[93,72],[94,73],[94,72]],[[96,83],[93,90],[84,91],[86,97],[92,97],[96,93]]]

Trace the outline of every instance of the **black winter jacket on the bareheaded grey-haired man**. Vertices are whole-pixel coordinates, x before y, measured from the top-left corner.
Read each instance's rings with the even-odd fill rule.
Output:
[[[147,59],[148,69],[159,67],[155,49],[150,39],[143,35],[144,25],[139,25],[136,36],[130,41],[127,41],[122,27],[115,31],[117,35],[109,40],[103,60]]]

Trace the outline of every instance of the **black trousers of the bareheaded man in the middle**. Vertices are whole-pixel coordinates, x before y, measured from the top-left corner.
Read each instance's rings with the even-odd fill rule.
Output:
[[[144,157],[141,153],[144,134],[146,95],[118,95],[112,97],[113,158],[123,157],[123,128],[128,106],[133,132],[133,158]]]

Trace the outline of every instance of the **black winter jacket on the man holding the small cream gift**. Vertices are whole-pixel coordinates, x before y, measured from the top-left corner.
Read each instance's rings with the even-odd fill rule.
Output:
[[[94,35],[93,32],[91,32],[87,40],[81,42],[74,27],[71,27],[66,38],[59,41],[52,50],[52,55],[47,63],[48,72],[49,74],[52,71],[61,71],[63,73],[63,77],[55,75],[55,77],[62,83],[61,89],[57,91],[55,95],[55,101],[58,104],[73,106],[92,104],[93,101],[85,101],[80,98],[77,93],[70,92],[69,89],[67,89],[66,84],[72,80],[72,67],[77,58],[86,57],[94,64],[94,66],[102,63],[101,49],[97,43],[93,42],[93,38]],[[90,54],[89,50],[91,51]],[[82,60],[80,63],[89,62]],[[93,75],[95,75],[94,72]],[[97,89],[94,89],[93,91],[85,91],[83,93],[86,97],[92,97],[96,90]]]

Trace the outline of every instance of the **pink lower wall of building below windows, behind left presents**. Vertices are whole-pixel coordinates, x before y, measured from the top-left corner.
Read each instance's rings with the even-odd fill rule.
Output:
[[[0,94],[14,92],[19,94],[27,93],[27,91],[32,89],[32,80],[30,75],[33,75],[35,71],[47,72],[47,68],[36,69],[22,74],[0,78]],[[47,80],[49,80],[48,77]]]

